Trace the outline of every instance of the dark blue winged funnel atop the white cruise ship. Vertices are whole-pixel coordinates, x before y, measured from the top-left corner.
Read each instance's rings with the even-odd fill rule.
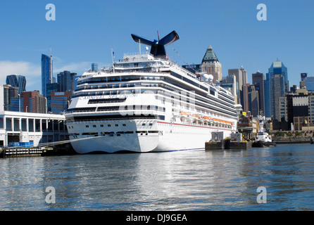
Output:
[[[140,37],[136,34],[131,34],[134,41],[140,44],[151,46],[151,54],[158,58],[166,58],[165,46],[179,39],[177,32],[172,31],[170,34],[163,37],[161,40],[150,40],[145,37]]]

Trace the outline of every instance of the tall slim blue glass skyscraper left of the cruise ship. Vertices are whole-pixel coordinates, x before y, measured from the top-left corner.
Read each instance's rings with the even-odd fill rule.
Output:
[[[53,82],[52,58],[42,54],[42,95],[46,97],[46,84]]]

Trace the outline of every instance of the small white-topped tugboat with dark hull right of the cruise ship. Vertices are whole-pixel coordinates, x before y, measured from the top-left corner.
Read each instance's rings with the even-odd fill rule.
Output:
[[[271,147],[276,146],[275,142],[272,142],[272,137],[265,132],[264,130],[265,125],[265,116],[258,115],[258,133],[256,136],[256,141],[253,142],[252,147]]]

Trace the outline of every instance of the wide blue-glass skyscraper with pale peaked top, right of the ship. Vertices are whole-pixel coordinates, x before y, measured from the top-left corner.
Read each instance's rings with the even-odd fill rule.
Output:
[[[284,63],[272,63],[264,81],[265,116],[280,120],[279,98],[289,91],[288,72]]]

